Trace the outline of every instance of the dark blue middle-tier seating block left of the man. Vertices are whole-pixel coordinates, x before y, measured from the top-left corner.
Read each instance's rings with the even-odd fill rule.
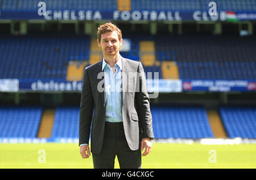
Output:
[[[0,37],[0,78],[66,79],[69,61],[89,60],[88,36]]]

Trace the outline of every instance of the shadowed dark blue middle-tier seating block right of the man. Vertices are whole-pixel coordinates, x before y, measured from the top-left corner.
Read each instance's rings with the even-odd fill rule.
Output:
[[[160,62],[176,60],[180,79],[255,79],[254,41],[255,36],[156,36],[155,47]]]

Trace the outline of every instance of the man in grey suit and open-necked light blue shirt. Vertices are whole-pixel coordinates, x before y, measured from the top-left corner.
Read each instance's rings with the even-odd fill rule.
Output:
[[[79,145],[94,168],[141,168],[154,139],[150,99],[141,62],[119,55],[122,33],[112,23],[98,27],[103,60],[85,68],[80,103]],[[92,125],[91,125],[92,124]],[[144,153],[141,152],[144,150]]]

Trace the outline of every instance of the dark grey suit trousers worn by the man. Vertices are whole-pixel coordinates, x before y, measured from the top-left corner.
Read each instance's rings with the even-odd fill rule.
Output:
[[[141,150],[131,150],[125,138],[123,123],[105,123],[100,154],[92,153],[94,169],[113,169],[115,156],[121,169],[141,168]]]

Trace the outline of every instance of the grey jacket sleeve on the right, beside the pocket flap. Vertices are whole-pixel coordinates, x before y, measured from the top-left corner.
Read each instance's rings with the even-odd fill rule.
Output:
[[[148,97],[146,77],[141,62],[139,62],[137,81],[139,83],[139,90],[135,93],[135,99],[141,122],[142,138],[154,138],[150,98]]]

